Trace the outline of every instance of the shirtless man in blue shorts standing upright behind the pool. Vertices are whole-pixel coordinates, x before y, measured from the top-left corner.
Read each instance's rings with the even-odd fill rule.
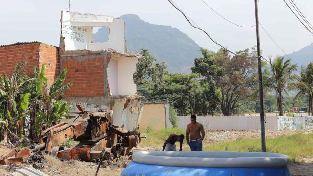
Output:
[[[190,116],[190,124],[187,125],[186,139],[191,151],[202,151],[202,141],[204,139],[203,126],[196,122],[196,115]],[[201,131],[201,135],[200,135]],[[190,140],[189,140],[190,133]]]

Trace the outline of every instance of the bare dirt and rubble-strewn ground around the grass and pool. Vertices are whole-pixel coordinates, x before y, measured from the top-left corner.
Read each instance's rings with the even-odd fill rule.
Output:
[[[278,137],[283,135],[291,135],[295,133],[310,133],[313,130],[292,130],[292,131],[276,131],[266,130],[266,137]],[[260,136],[259,130],[211,130],[205,138],[204,144],[214,144],[223,141],[232,141],[238,138],[254,138]],[[158,147],[141,147],[138,150],[156,150]],[[0,144],[0,156],[7,154],[12,150],[12,146],[3,146]],[[124,167],[131,162],[129,157],[121,157],[119,162],[113,163],[107,161],[104,166],[99,169],[98,175],[121,175]],[[78,160],[61,161],[51,156],[45,155],[45,161],[42,163],[25,163],[22,165],[0,166],[0,175],[10,175],[16,169],[23,166],[35,167],[48,175],[95,175],[98,165],[92,162],[82,162]],[[291,163],[288,165],[291,175],[309,176],[313,175],[313,156],[303,158],[301,163]]]

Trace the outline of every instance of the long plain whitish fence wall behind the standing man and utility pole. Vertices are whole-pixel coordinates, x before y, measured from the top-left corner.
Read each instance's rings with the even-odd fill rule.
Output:
[[[277,130],[277,116],[265,117],[265,129]],[[205,130],[232,130],[232,129],[260,129],[260,117],[253,116],[198,116],[197,121]],[[186,129],[190,123],[190,116],[180,116],[178,128]]]

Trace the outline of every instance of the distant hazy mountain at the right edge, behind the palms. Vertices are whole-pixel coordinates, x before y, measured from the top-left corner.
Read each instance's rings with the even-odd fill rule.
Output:
[[[300,72],[301,65],[306,67],[310,62],[313,62],[313,43],[299,51],[288,54],[286,57],[290,57],[294,63],[298,64],[298,72]]]

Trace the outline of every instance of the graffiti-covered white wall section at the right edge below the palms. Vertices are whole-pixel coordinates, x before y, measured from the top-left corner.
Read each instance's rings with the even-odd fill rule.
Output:
[[[287,117],[278,116],[278,130],[313,129],[313,116]]]

